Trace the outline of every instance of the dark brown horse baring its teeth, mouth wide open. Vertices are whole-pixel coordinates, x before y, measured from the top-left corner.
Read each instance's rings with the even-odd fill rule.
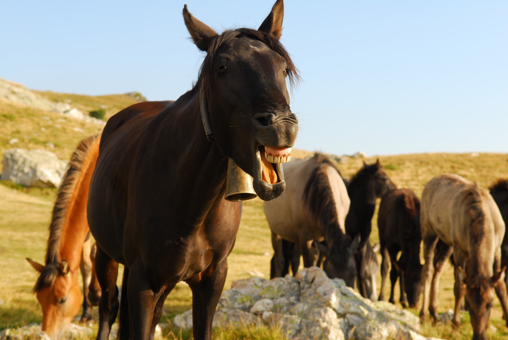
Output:
[[[277,0],[258,30],[217,35],[185,6],[188,32],[207,52],[194,88],[173,104],[139,103],[109,119],[87,207],[102,290],[98,339],[116,317],[118,263],[120,339],[153,338],[180,281],[193,292],[194,338],[211,338],[241,214],[241,202],[224,199],[228,159],[253,177],[261,199],[274,199],[298,132],[286,87],[298,76],[279,42],[282,16]]]

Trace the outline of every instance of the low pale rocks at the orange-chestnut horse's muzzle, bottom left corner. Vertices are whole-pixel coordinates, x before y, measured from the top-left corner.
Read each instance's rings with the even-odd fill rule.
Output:
[[[92,335],[92,329],[71,323],[64,339],[81,339]],[[7,328],[0,332],[0,340],[51,340],[50,337],[41,330],[40,324],[29,324],[20,328]]]

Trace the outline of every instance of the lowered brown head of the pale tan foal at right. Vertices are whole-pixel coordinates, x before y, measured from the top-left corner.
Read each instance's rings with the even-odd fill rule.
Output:
[[[492,277],[482,275],[467,277],[460,266],[458,269],[464,277],[463,284],[466,285],[465,305],[471,317],[473,339],[487,339],[486,332],[489,327],[490,312],[494,300],[492,288],[501,279],[501,274],[506,267]]]

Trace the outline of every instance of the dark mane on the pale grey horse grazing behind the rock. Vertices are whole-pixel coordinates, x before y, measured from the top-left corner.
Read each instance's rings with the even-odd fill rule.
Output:
[[[321,226],[323,233],[331,239],[340,241],[345,235],[340,229],[335,199],[326,171],[329,166],[337,168],[323,154],[316,152],[314,159],[317,166],[312,170],[305,184],[303,200],[311,214],[311,219]],[[338,175],[340,176],[340,173]],[[340,245],[334,244],[334,248],[340,248]]]

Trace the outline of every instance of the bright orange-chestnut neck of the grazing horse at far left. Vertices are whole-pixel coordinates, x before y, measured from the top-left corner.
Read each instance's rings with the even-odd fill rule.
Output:
[[[96,152],[96,153],[94,153]],[[84,161],[82,172],[76,182],[72,198],[67,206],[67,215],[62,222],[63,227],[59,239],[60,260],[66,260],[73,271],[77,271],[81,263],[83,242],[89,232],[86,220],[86,203],[88,188],[98,156],[97,150],[90,151],[90,157]]]

